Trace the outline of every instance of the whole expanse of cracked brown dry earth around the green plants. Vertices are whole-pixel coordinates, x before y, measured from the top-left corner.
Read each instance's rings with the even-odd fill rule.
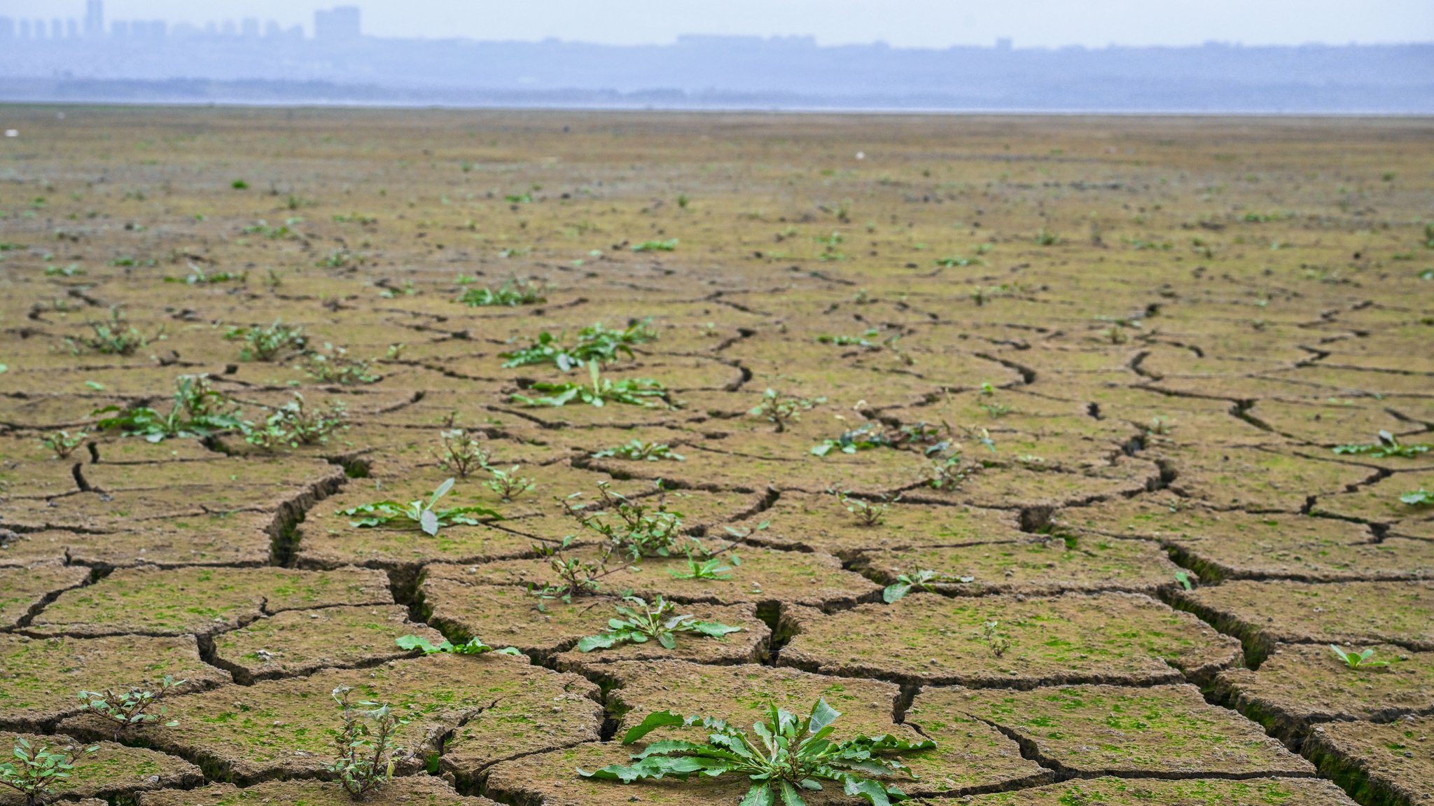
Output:
[[[409,720],[381,805],[736,803],[575,769],[654,710],[819,696],[936,741],[928,806],[1434,803],[1434,506],[1401,501],[1434,490],[1428,120],[57,112],[0,109],[0,729],[105,739],[59,799],[343,803],[351,686]],[[455,301],[511,277],[545,300]],[[112,310],[146,343],[75,341]],[[673,404],[512,397],[587,373],[500,353],[647,317],[604,373]],[[277,320],[307,347],[227,338]],[[364,377],[305,373],[324,344]],[[195,374],[250,422],[295,392],[347,420],[272,450],[98,426]],[[767,389],[823,400],[777,432]],[[865,423],[892,442],[812,453]],[[459,479],[502,519],[436,536],[337,515],[427,496],[452,427],[535,489]],[[1334,450],[1380,432],[1415,447]],[[595,456],[634,439],[683,459]],[[612,602],[528,587],[535,546],[595,555],[555,498],[601,482],[741,559],[605,591],[740,632],[576,651]],[[172,727],[79,708],[166,674]]]

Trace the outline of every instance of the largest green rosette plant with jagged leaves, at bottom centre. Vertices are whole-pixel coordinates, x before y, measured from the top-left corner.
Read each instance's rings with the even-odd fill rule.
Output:
[[[674,711],[648,714],[641,724],[622,736],[632,744],[660,727],[701,726],[711,731],[707,741],[654,741],[632,756],[632,764],[609,764],[595,772],[578,770],[582,777],[632,783],[645,779],[687,780],[694,774],[720,777],[744,776],[751,787],[743,806],[804,806],[800,792],[820,792],[822,782],[835,782],[842,792],[872,806],[889,806],[905,793],[883,780],[905,774],[915,779],[901,753],[934,750],[935,741],[908,741],[891,734],[858,736],[835,740],[832,723],[840,711],[817,700],[812,713],[797,717],[776,706],[767,707],[767,721],[753,726],[757,739],[740,727],[713,717],[684,717]]]

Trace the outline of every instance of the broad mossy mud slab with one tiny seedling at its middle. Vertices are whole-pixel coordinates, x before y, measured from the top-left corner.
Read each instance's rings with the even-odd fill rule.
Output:
[[[984,635],[997,622],[1001,655]],[[1239,663],[1233,638],[1137,594],[946,598],[911,594],[833,615],[793,608],[779,663],[925,686],[1032,688],[1206,680]]]

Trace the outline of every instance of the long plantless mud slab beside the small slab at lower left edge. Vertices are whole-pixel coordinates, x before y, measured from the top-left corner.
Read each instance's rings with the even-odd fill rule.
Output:
[[[211,635],[285,610],[391,602],[389,578],[361,568],[120,568],[62,594],[26,630],[36,635]]]

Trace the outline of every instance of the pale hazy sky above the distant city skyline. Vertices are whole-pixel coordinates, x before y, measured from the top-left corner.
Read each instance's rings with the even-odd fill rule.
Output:
[[[1246,44],[1434,40],[1434,0],[106,0],[109,19],[275,19],[360,6],[364,33],[667,43],[680,33],[812,34],[823,44]],[[85,0],[0,0],[0,16],[82,16]]]

